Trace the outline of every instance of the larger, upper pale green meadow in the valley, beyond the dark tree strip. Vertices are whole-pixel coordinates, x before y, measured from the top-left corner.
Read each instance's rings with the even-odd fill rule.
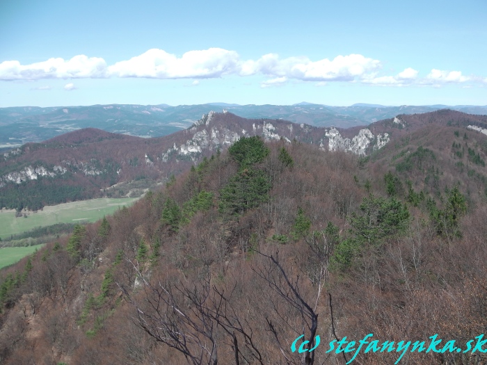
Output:
[[[14,210],[3,210],[0,211],[0,238],[56,223],[95,222],[136,200],[138,198],[101,198],[45,206],[42,211],[29,212],[27,218],[15,218]]]

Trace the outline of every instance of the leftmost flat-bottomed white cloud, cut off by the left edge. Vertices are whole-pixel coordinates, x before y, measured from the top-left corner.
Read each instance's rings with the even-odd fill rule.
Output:
[[[106,77],[106,63],[103,58],[81,54],[70,60],[49,58],[49,60],[20,65],[10,60],[0,63],[0,80],[39,80],[39,79],[85,79]]]

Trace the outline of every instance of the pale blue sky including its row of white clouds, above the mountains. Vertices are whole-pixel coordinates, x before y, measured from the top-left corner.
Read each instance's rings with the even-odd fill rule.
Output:
[[[0,107],[487,104],[487,1],[0,1]]]

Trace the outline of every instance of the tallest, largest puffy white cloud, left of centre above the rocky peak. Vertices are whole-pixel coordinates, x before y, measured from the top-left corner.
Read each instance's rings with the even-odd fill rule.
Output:
[[[109,74],[152,79],[205,79],[236,73],[238,62],[237,52],[221,48],[189,51],[181,58],[162,49],[150,49],[141,56],[110,66]]]

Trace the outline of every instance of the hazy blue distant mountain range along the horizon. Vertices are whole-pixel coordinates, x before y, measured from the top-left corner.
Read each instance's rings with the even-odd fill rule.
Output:
[[[209,111],[223,109],[246,118],[289,120],[314,127],[349,128],[368,125],[399,114],[428,113],[442,108],[470,114],[487,114],[487,106],[381,106],[353,104],[327,106],[301,102],[290,106],[209,103],[200,105],[152,106],[110,104],[40,108],[0,108],[0,149],[40,142],[68,131],[95,127],[113,133],[143,138],[166,136],[191,127]]]

